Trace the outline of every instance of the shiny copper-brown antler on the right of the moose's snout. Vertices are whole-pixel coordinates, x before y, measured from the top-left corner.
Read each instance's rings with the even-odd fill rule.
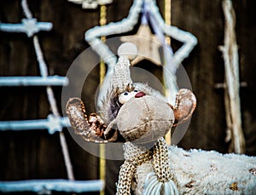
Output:
[[[188,120],[191,117],[192,113],[195,111],[195,95],[189,89],[180,89],[176,95],[175,106],[170,106],[173,110],[175,117],[175,121],[172,126],[176,127],[177,124],[183,123]]]

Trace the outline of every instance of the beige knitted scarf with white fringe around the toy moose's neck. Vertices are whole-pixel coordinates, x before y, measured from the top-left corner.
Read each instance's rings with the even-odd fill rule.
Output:
[[[131,194],[132,181],[138,181],[138,178],[134,175],[137,167],[144,163],[148,164],[149,162],[152,162],[155,174],[154,177],[148,180],[148,183],[152,184],[153,187],[148,185],[145,194],[161,191],[164,192],[163,194],[177,192],[177,186],[172,181],[169,166],[170,159],[164,138],[160,138],[151,150],[148,150],[147,147],[144,146],[137,146],[131,142],[126,142],[124,149],[125,163],[122,164],[119,171],[117,194]],[[152,191],[147,191],[151,189],[150,187],[152,187]],[[134,189],[134,187],[132,187],[132,189]]]

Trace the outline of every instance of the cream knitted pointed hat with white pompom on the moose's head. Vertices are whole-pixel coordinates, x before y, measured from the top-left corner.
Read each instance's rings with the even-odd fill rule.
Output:
[[[137,47],[132,43],[123,43],[118,49],[119,60],[113,69],[111,89],[119,89],[119,93],[125,92],[128,85],[132,84],[129,67],[130,60],[137,56]]]

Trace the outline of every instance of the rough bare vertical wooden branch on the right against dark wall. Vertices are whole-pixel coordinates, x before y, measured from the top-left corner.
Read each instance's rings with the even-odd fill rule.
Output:
[[[241,103],[239,95],[239,57],[236,43],[236,14],[232,1],[222,2],[225,26],[224,46],[219,49],[224,56],[225,83],[224,104],[227,122],[227,135],[231,135],[229,152],[244,153],[245,138],[241,128]],[[229,139],[226,139],[229,141]]]

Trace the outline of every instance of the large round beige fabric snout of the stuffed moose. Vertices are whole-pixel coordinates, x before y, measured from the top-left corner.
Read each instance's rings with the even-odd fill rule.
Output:
[[[172,128],[174,114],[165,101],[145,95],[128,100],[116,119],[119,132],[126,141],[143,144],[166,135]]]

